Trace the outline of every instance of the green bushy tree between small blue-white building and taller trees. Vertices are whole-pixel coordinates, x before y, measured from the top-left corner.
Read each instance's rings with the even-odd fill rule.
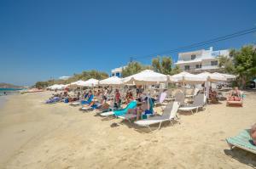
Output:
[[[139,62],[130,62],[123,70],[122,76],[131,76],[134,75],[142,70],[151,70],[152,67],[150,65],[142,65]]]

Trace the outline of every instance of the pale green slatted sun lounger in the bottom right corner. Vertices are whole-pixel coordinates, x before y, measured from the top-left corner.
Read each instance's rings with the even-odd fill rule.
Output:
[[[227,138],[226,141],[230,145],[230,149],[232,150],[234,147],[238,147],[256,154],[256,145],[253,144],[249,131],[248,129],[243,130],[237,136]]]

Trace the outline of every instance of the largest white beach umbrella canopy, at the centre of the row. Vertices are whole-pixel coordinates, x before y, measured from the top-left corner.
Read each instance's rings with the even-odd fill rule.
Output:
[[[160,82],[167,82],[168,76],[154,72],[153,70],[143,70],[132,76],[125,77],[122,80],[125,84],[144,85],[157,84]]]

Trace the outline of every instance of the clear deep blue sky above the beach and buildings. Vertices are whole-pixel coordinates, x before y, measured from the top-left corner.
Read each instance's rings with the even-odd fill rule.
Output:
[[[110,72],[131,56],[253,26],[255,0],[1,0],[0,82],[32,85],[82,70]],[[252,42],[255,34],[201,48],[240,48]],[[177,54],[172,58],[177,60]],[[150,64],[151,59],[142,61]]]

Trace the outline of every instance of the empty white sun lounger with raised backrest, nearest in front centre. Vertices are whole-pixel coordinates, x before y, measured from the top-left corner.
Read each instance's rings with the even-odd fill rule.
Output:
[[[141,127],[148,127],[150,131],[152,131],[151,128],[149,127],[150,125],[160,123],[158,127],[158,129],[160,129],[162,122],[164,121],[172,122],[172,120],[177,120],[178,107],[179,107],[179,103],[175,101],[172,104],[166,105],[163,115],[149,117],[148,119],[145,119],[142,121],[135,121],[134,123]]]

